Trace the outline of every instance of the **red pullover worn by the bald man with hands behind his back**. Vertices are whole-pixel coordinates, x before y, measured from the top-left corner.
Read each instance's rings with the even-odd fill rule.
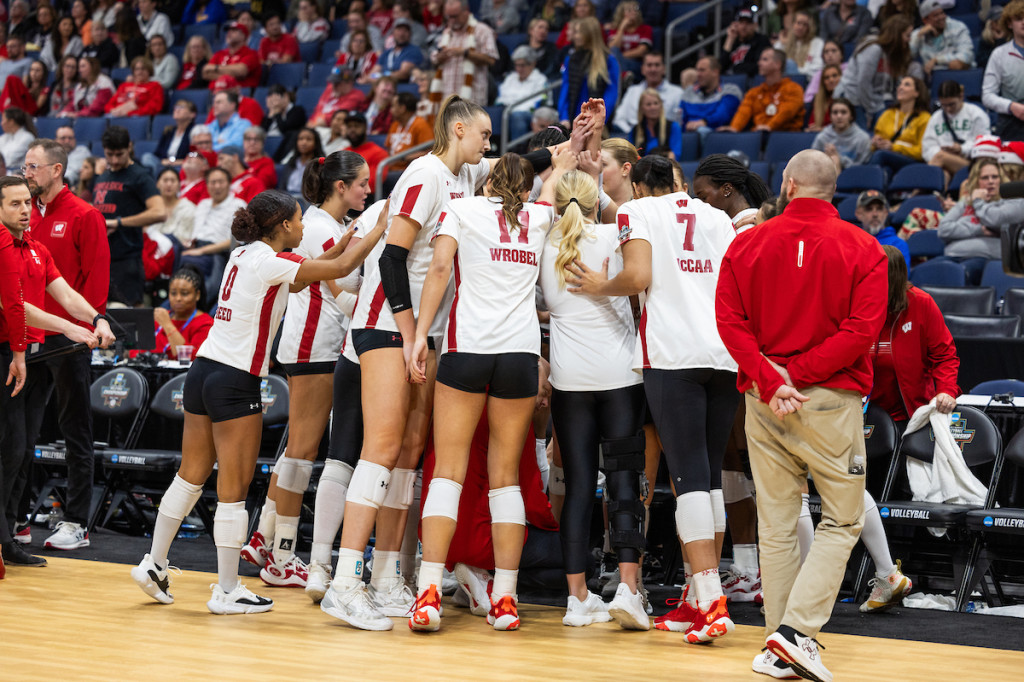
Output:
[[[767,402],[784,383],[763,354],[783,366],[797,388],[866,395],[867,351],[886,318],[888,282],[878,240],[819,199],[795,199],[738,236],[722,260],[715,312],[739,365],[739,390],[757,382]]]

